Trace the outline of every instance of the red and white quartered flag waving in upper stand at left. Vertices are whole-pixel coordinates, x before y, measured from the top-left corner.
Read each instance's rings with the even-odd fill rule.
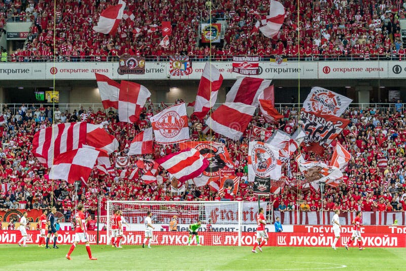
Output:
[[[123,17],[123,5],[110,6],[100,13],[97,25],[93,30],[99,33],[114,35]]]

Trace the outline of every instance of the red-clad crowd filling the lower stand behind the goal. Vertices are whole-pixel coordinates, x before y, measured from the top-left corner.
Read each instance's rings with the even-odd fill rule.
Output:
[[[308,160],[329,161],[336,142],[340,142],[353,155],[348,164],[344,180],[339,187],[326,187],[323,195],[324,210],[340,208],[342,212],[362,211],[395,211],[406,210],[405,156],[406,144],[406,113],[401,103],[392,107],[392,112],[375,108],[354,108],[345,112],[351,120],[348,127],[333,141],[332,146],[322,154],[306,153]],[[69,220],[75,206],[75,189],[73,184],[64,181],[49,180],[48,170],[32,155],[32,138],[36,131],[51,126],[53,122],[76,122],[100,124],[119,141],[119,152],[128,151],[129,144],[138,132],[150,125],[149,118],[160,108],[145,108],[141,119],[134,124],[118,121],[114,110],[97,110],[78,108],[72,114],[53,111],[43,105],[22,104],[13,112],[5,105],[3,116],[6,120],[0,126],[2,140],[0,142],[0,211],[12,209],[48,209],[53,205]],[[88,186],[82,185],[77,191],[78,202],[85,205],[90,214],[97,207],[97,195],[101,195],[101,210],[105,210],[108,199],[116,200],[248,200],[256,201],[253,194],[253,183],[248,182],[248,142],[251,137],[252,125],[265,127],[268,130],[281,129],[293,133],[297,126],[298,111],[286,107],[284,118],[278,123],[266,123],[261,115],[255,115],[243,138],[232,141],[217,133],[205,134],[204,121],[193,115],[189,117],[191,138],[196,141],[213,140],[226,145],[230,158],[235,164],[235,174],[241,177],[238,193],[219,195],[209,185],[195,187],[189,185],[185,192],[171,192],[171,182],[166,172],[158,168],[162,183],[144,183],[140,178],[141,169],[131,179],[131,171],[122,173],[117,169],[115,175],[105,175],[94,168]],[[156,145],[155,152],[145,158],[158,158],[179,150],[177,145]],[[292,156],[291,168],[298,172],[297,163]],[[139,156],[130,157],[130,166],[134,167]],[[114,164],[114,157],[111,156]],[[287,176],[286,166],[283,174]],[[294,184],[294,180],[289,182]],[[269,201],[269,208],[280,211],[318,211],[321,209],[320,192],[313,187],[288,185],[281,194],[260,196],[260,200]]]

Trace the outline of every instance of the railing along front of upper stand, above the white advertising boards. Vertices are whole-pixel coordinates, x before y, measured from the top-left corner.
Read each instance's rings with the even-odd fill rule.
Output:
[[[132,55],[128,55],[132,56]],[[254,56],[254,55],[212,55],[212,60],[214,61],[222,61],[222,62],[229,62],[232,61],[233,56]],[[96,59],[100,57],[99,59]],[[137,56],[133,56],[137,57]],[[170,61],[170,56],[157,56],[157,55],[148,55],[142,56],[145,57],[145,61],[151,62],[168,62]],[[271,59],[275,59],[276,55],[263,55],[260,56],[260,61],[271,61]],[[284,56],[287,61],[378,61],[378,60],[386,60],[386,61],[399,61],[402,58],[406,59],[406,55],[399,55],[399,54],[383,54],[383,55],[370,55],[367,56],[359,56],[359,55],[347,55],[347,56],[340,56],[340,55],[311,55],[305,56],[300,55],[298,56]],[[194,55],[189,56],[191,61],[207,61],[209,56],[206,55]],[[58,55],[57,62],[119,62],[119,57],[113,56],[78,56],[78,55]],[[53,62],[53,56],[23,56],[23,55],[16,55],[16,56],[7,56],[7,62]]]

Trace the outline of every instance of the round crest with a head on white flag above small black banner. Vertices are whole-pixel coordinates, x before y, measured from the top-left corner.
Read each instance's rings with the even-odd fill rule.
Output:
[[[269,176],[277,164],[277,158],[268,146],[255,144],[251,152],[252,167],[255,175],[259,177]]]

